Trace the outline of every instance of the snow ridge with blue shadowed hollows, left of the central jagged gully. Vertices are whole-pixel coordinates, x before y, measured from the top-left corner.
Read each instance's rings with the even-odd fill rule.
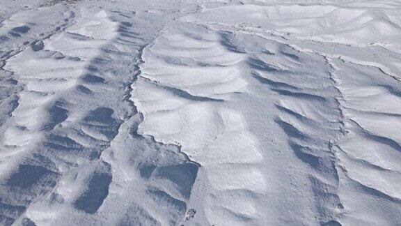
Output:
[[[139,32],[152,21],[133,24],[133,11],[85,6],[74,16],[3,66],[21,89],[2,127],[1,222],[178,222],[198,166],[175,146],[137,135],[141,115],[129,101],[141,50],[154,36]],[[125,206],[119,214],[115,204]]]

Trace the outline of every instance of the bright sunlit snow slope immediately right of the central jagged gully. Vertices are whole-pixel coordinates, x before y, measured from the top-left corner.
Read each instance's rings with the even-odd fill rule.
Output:
[[[227,102],[246,91],[239,66],[244,56],[221,46],[219,33],[185,25],[171,30],[144,50],[132,94],[145,116],[139,132],[180,144],[201,164],[203,179],[195,189],[203,198],[191,202],[208,219],[201,224],[246,223],[258,213],[253,199],[266,185],[258,142]]]

